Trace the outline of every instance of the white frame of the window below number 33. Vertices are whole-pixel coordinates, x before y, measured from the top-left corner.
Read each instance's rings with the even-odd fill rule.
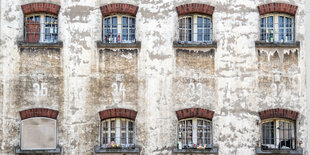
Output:
[[[186,146],[187,148],[193,148],[194,147],[194,144],[196,145],[196,147],[198,146],[198,121],[201,120],[203,121],[204,123],[208,123],[209,126],[205,126],[203,127],[203,139],[205,139],[205,141],[203,140],[203,144],[200,144],[200,146],[204,146],[206,145],[206,148],[212,148],[212,145],[213,145],[213,129],[212,129],[212,121],[210,120],[207,120],[207,119],[203,119],[203,118],[188,118],[188,119],[182,119],[182,120],[179,120],[178,122],[178,127],[177,127],[177,139],[178,139],[178,144],[181,142],[182,143],[182,148],[183,146]],[[192,121],[192,125],[189,126],[187,125],[187,121]],[[182,128],[182,122],[185,122],[185,135],[182,134],[183,132],[183,128]],[[204,130],[208,130],[208,127],[209,127],[209,134],[210,134],[210,137],[207,137],[207,133],[204,133]],[[187,134],[187,130],[191,129],[192,131],[192,136],[191,136],[191,140],[188,140],[187,138],[189,137]],[[206,134],[206,136],[204,136]],[[182,137],[182,138],[180,138]],[[185,139],[183,139],[183,137]],[[207,139],[210,139],[210,143],[208,144],[207,143]]]

